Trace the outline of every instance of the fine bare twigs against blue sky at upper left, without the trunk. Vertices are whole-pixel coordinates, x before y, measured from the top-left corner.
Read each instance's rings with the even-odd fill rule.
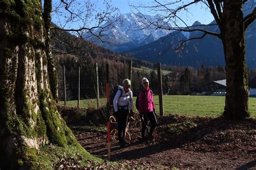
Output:
[[[97,9],[96,2],[61,0],[60,3],[54,4],[52,13],[56,26],[51,27],[51,30],[69,31],[80,38],[90,33],[91,36],[105,42],[102,39],[103,36],[107,36],[104,32],[119,21],[119,10],[113,8],[107,0],[103,1],[104,10]]]

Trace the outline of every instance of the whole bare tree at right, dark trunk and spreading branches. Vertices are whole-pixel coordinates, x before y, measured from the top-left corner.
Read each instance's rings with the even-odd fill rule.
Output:
[[[223,115],[228,119],[242,119],[249,117],[248,112],[248,81],[245,51],[245,31],[256,18],[254,1],[233,1],[233,0],[195,0],[195,1],[159,1],[155,0],[154,5],[139,5],[133,8],[140,11],[146,8],[152,12],[160,12],[159,21],[165,20],[172,24],[159,24],[161,22],[150,22],[144,15],[140,15],[147,22],[148,26],[155,26],[156,29],[178,30],[185,32],[199,31],[200,37],[192,37],[187,40],[174,42],[177,49],[183,49],[187,41],[204,38],[207,34],[218,37],[223,42],[226,61],[226,100]],[[190,12],[190,6],[199,4],[206,10],[210,10],[219,29],[217,32],[202,29],[211,25],[188,26],[181,19],[180,14]],[[247,5],[247,11],[242,7]],[[173,6],[176,6],[173,8]],[[248,10],[249,9],[249,10]],[[250,10],[251,9],[251,10]],[[183,26],[180,26],[183,25]],[[177,45],[178,44],[178,45]]]

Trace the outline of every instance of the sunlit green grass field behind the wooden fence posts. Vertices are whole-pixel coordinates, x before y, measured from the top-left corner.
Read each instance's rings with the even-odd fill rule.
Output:
[[[224,111],[224,96],[163,96],[164,114],[178,114],[184,116],[217,117]],[[133,97],[135,105],[136,97]],[[159,114],[159,98],[154,96],[157,114]],[[64,102],[60,102],[64,104]],[[70,107],[77,107],[77,101],[68,101]],[[100,107],[106,105],[106,98],[100,98]],[[96,108],[96,100],[81,100],[80,108]],[[256,118],[256,98],[249,97],[249,112],[251,117]]]

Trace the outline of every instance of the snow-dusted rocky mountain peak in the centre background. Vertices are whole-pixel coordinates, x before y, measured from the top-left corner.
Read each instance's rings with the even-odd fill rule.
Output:
[[[104,31],[104,34],[107,36],[103,36],[102,39],[111,43],[102,43],[100,41],[95,41],[94,43],[112,51],[123,52],[134,47],[149,44],[170,33],[170,31],[156,29],[156,27],[147,25],[144,17],[151,20],[151,22],[167,24],[158,15],[143,16],[141,13],[126,13],[120,16],[119,22],[114,23],[107,31]],[[96,33],[98,31],[95,30]],[[89,36],[85,34],[84,38],[87,39],[86,37]]]

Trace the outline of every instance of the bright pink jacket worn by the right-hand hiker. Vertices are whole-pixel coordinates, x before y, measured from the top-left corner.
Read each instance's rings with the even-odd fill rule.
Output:
[[[139,112],[151,112],[153,111],[153,109],[155,109],[153,94],[150,92],[150,88],[148,90],[143,90],[145,93],[143,93],[142,91],[140,91],[139,93]]]

